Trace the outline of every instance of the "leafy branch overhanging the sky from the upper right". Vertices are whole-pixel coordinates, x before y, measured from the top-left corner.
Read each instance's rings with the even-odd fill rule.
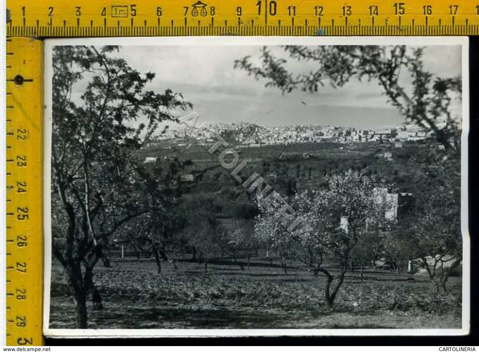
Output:
[[[314,62],[316,70],[304,73],[290,72],[287,59],[276,57],[263,47],[257,66],[250,57],[235,61],[235,68],[246,70],[255,79],[266,79],[266,87],[279,88],[283,93],[295,89],[319,92],[329,82],[342,87],[351,79],[375,80],[408,122],[414,122],[432,131],[446,149],[459,149],[458,122],[452,116],[451,102],[460,98],[460,77],[442,78],[427,71],[423,65],[422,47],[405,46],[284,46],[292,60]],[[408,75],[412,89],[401,83]],[[445,120],[444,126],[441,124]]]

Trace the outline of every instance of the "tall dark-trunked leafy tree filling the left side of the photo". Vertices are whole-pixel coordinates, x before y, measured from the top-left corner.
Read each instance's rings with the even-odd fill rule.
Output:
[[[103,249],[122,226],[151,210],[136,153],[161,121],[191,107],[170,89],[148,91],[155,74],[132,69],[113,55],[117,50],[53,50],[52,248],[67,274],[80,329],[88,327],[88,294],[99,296],[93,269],[100,259],[109,265]]]

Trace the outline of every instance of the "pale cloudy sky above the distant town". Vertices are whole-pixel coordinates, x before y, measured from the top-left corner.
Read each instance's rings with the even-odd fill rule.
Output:
[[[148,89],[181,92],[208,123],[243,121],[267,126],[312,124],[359,129],[404,123],[374,81],[353,80],[336,89],[326,85],[316,94],[282,94],[276,88],[265,88],[266,81],[256,81],[245,71],[233,68],[235,59],[258,58],[260,50],[259,46],[124,46],[117,55],[142,73],[156,73]],[[423,61],[433,74],[460,75],[461,47],[426,47]],[[312,68],[297,61],[287,65],[295,72]],[[458,113],[460,107],[456,105],[454,111]]]

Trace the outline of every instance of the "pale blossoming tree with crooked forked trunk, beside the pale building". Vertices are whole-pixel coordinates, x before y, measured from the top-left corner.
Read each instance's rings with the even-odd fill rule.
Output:
[[[326,276],[325,303],[331,309],[354,247],[370,231],[388,230],[385,213],[391,204],[379,192],[388,185],[364,172],[348,170],[328,176],[326,181],[326,188],[301,192],[293,200],[302,224],[294,238],[317,243],[316,271]],[[339,259],[338,273],[323,266],[323,254],[327,253]]]

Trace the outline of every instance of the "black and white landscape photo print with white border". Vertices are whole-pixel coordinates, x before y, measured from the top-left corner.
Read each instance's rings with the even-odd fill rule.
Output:
[[[467,50],[47,40],[46,336],[466,334]]]

